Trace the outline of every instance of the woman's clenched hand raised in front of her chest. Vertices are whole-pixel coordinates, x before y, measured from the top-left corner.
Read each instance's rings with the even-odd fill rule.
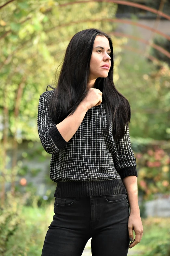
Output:
[[[102,92],[96,88],[89,88],[86,97],[82,100],[82,104],[89,109],[99,106],[102,102]]]

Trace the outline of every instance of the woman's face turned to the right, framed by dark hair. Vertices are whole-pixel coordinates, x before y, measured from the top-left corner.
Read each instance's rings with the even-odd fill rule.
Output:
[[[108,39],[105,36],[96,36],[90,60],[90,80],[108,76],[111,66],[110,52]],[[108,68],[102,67],[105,64],[107,64]]]

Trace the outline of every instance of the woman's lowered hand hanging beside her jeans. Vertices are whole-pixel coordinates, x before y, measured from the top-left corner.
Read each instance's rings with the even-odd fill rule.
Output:
[[[128,230],[129,230],[129,238],[132,238],[133,242],[130,243],[129,248],[134,247],[138,243],[140,243],[143,236],[143,225],[140,217],[140,213],[130,213],[128,220]],[[135,231],[135,239],[133,235],[133,230]]]

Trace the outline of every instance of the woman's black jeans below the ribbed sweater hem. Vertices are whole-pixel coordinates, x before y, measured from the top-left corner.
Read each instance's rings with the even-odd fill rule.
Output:
[[[41,256],[81,256],[90,238],[92,256],[127,256],[126,194],[55,197],[54,213]]]

